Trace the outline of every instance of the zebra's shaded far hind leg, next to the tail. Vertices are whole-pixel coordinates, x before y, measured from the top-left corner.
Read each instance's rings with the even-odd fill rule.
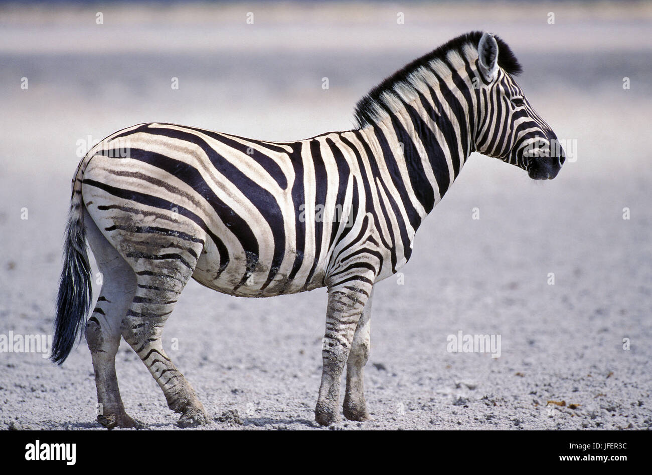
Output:
[[[93,358],[97,388],[97,420],[108,429],[141,427],[125,412],[115,375],[115,354],[120,345],[121,323],[136,293],[136,275],[125,259],[85,214],[86,237],[102,273],[102,291],[85,329]]]

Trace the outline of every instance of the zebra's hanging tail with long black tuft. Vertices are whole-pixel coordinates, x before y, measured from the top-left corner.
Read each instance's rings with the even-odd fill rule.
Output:
[[[63,270],[59,280],[57,316],[50,356],[57,364],[63,364],[68,358],[78,335],[82,338],[83,324],[93,299],[91,265],[86,252],[86,230],[83,225],[82,168],[80,164],[73,180],[65,232]]]

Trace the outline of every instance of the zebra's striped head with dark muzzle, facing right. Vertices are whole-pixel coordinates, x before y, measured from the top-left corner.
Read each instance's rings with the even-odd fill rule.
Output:
[[[512,75],[520,72],[520,65],[512,51],[500,38],[484,33],[475,66],[479,73],[476,150],[521,167],[531,179],[554,179],[565,154],[514,81]]]

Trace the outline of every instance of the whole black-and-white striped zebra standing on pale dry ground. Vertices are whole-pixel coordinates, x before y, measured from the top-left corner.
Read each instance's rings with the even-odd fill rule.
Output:
[[[501,38],[474,31],[372,89],[351,130],[272,142],[149,122],[106,137],[72,179],[53,362],[62,364],[83,332],[98,422],[141,427],[126,414],[115,375],[122,337],[181,413],[176,424],[207,424],[161,339],[188,280],[243,297],[327,287],[315,419],[341,420],[346,366],[344,417],[367,420],[375,284],[408,261],[417,228],[471,152],[537,180],[556,177],[565,160],[514,80],[521,70]],[[87,321],[86,241],[103,276]]]

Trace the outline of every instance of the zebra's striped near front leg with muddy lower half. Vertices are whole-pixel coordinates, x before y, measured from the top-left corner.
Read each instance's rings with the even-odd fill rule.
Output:
[[[321,357],[321,386],[315,420],[329,425],[340,420],[340,377],[349,358],[355,328],[369,298],[373,280],[348,281],[329,289],[326,332]]]

